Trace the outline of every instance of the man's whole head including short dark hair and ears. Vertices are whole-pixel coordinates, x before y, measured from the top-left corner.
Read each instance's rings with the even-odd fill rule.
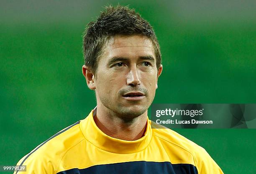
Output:
[[[106,7],[84,35],[83,74],[98,107],[134,118],[152,103],[162,71],[156,35],[128,7]]]

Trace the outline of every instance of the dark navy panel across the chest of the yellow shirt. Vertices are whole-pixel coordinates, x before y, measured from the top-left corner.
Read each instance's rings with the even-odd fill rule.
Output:
[[[57,174],[198,174],[198,172],[192,164],[136,161],[102,164],[86,169],[75,168]]]

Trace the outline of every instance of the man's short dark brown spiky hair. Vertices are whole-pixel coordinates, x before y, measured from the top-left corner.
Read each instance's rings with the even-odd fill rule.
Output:
[[[151,25],[128,6],[107,6],[97,20],[87,24],[83,36],[84,65],[97,70],[97,59],[104,46],[115,35],[144,35],[151,39],[156,56],[157,69],[161,65],[160,46]]]

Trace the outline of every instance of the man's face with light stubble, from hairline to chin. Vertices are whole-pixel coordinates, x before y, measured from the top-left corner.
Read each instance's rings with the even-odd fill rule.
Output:
[[[152,42],[141,35],[113,37],[98,60],[97,105],[120,117],[135,118],[151,105],[162,67],[157,70]]]

